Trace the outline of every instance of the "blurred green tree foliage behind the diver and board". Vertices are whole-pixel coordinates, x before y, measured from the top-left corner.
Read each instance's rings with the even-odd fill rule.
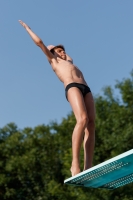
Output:
[[[133,71],[117,82],[120,99],[111,87],[95,98],[96,146],[94,165],[132,149]],[[133,185],[116,190],[64,185],[71,176],[71,136],[75,117],[19,130],[14,123],[0,129],[1,200],[132,200]],[[81,168],[83,167],[83,148]]]

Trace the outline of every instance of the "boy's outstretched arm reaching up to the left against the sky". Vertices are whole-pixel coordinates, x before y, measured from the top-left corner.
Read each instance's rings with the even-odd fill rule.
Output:
[[[29,33],[31,36],[32,40],[35,42],[37,46],[39,46],[44,54],[46,55],[48,61],[52,63],[52,60],[55,59],[54,55],[48,50],[48,48],[43,44],[43,41],[31,30],[31,28],[19,20],[19,23],[26,29],[26,31]]]

